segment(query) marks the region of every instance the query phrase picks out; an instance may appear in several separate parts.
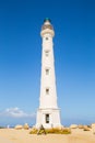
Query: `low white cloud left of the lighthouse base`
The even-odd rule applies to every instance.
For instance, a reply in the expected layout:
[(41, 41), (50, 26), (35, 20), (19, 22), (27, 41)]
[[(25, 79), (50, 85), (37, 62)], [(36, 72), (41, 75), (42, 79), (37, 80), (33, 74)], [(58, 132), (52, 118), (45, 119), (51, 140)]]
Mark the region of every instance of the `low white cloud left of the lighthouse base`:
[(34, 118), (35, 113), (26, 113), (20, 108), (8, 108), (0, 112), (0, 117), (11, 117), (11, 118)]

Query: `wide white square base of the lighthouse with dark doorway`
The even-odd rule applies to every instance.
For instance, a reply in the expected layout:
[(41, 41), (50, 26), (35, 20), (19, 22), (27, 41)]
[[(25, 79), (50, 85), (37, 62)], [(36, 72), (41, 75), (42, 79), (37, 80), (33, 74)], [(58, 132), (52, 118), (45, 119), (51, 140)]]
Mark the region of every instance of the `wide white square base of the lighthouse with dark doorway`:
[[(49, 114), (48, 121), (46, 119), (47, 117), (46, 114)], [(45, 129), (61, 128), (60, 110), (59, 109), (38, 109), (37, 121), (36, 121), (35, 127), (38, 129), (40, 124), (43, 124)]]

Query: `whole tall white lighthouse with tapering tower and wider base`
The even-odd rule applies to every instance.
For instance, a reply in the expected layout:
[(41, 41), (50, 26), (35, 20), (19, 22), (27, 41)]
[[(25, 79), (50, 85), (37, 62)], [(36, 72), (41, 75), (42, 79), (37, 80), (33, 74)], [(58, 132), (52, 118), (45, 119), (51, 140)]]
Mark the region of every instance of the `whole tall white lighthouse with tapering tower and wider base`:
[(61, 127), (60, 110), (57, 105), (55, 59), (54, 59), (54, 28), (49, 19), (45, 19), (40, 35), (43, 38), (41, 78), (39, 108), (37, 110), (36, 128)]

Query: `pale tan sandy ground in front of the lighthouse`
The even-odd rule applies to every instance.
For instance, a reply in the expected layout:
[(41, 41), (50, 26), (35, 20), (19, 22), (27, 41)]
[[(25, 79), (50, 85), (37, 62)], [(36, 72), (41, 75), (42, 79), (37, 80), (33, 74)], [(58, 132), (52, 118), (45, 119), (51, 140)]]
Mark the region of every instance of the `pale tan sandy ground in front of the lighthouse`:
[(29, 134), (29, 130), (0, 129), (0, 143), (95, 143), (92, 131), (73, 129), (71, 134)]

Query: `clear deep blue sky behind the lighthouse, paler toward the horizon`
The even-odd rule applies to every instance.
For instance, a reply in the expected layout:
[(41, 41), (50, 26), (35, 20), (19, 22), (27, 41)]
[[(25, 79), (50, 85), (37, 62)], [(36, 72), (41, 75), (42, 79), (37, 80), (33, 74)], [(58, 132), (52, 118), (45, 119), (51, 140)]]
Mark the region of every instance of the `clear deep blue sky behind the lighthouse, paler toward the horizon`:
[(95, 1), (0, 0), (0, 125), (35, 123), (47, 16), (62, 123), (95, 122)]

